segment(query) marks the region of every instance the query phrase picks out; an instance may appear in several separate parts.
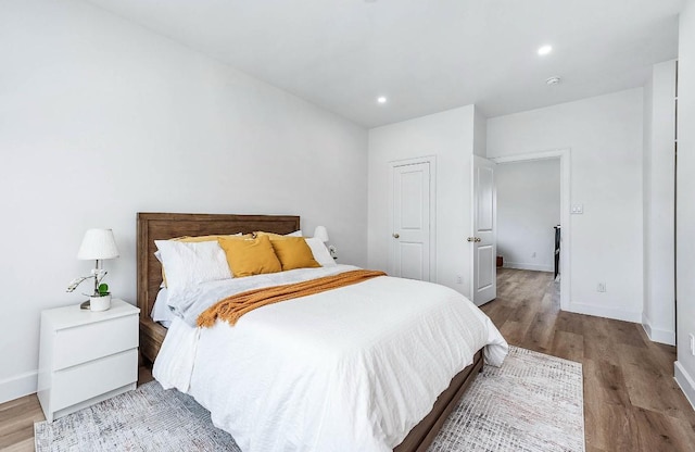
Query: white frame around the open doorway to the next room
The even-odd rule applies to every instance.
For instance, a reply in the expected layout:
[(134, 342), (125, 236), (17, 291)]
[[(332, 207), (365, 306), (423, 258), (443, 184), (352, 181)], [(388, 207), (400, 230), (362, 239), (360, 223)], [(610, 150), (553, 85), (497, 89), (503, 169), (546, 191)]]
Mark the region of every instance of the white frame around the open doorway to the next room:
[(549, 151), (530, 152), (515, 155), (490, 158), (495, 163), (530, 162), (534, 160), (560, 159), (560, 309), (570, 311), (570, 268), (571, 222), (569, 206), (571, 202), (571, 149), (554, 149)]

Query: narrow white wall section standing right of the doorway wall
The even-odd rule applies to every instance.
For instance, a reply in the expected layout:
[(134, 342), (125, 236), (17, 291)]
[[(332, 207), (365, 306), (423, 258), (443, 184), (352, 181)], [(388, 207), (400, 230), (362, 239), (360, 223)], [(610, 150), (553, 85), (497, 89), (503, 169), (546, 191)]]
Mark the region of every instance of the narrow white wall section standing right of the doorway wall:
[(675, 61), (654, 65), (644, 88), (644, 313), (652, 340), (675, 344)]

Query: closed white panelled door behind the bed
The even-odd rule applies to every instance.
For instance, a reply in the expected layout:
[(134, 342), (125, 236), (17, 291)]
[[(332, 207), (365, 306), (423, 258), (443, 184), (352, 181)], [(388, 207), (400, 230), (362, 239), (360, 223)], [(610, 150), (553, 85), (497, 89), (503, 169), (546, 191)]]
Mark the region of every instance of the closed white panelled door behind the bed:
[(392, 166), (389, 273), (430, 280), (430, 163)]

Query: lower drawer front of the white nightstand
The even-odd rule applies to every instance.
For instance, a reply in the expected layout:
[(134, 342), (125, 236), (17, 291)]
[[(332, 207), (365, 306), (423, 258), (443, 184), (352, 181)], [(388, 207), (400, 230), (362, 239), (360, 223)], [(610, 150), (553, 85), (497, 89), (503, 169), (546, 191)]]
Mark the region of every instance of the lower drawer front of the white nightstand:
[(52, 410), (62, 410), (137, 379), (138, 351), (135, 349), (58, 371), (53, 375)]

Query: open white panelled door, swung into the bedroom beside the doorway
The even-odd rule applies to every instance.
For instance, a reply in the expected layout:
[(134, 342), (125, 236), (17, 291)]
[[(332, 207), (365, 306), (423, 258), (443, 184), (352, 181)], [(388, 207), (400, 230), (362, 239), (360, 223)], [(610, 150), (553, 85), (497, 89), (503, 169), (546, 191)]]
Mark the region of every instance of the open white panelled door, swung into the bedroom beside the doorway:
[(473, 234), (468, 238), (472, 247), (471, 299), (480, 306), (497, 296), (495, 164), (473, 155), (471, 181)]

